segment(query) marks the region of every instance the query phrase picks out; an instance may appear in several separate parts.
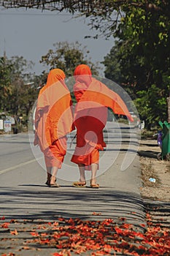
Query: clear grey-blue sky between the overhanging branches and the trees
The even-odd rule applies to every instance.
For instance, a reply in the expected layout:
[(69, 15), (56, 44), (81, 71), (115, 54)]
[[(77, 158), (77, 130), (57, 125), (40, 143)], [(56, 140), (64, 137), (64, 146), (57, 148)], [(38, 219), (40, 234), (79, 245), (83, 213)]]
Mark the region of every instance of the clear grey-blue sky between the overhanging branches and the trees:
[[(23, 56), (27, 61), (34, 61), (34, 72), (39, 75), (45, 67), (39, 60), (55, 42), (80, 42), (87, 46), (93, 63), (103, 61), (114, 45), (114, 39), (85, 39), (95, 35), (85, 18), (72, 18), (66, 12), (42, 10), (4, 10), (0, 7), (0, 56), (4, 50), (7, 57)], [(48, 70), (47, 70), (48, 71)], [(100, 75), (103, 75), (103, 65)]]

